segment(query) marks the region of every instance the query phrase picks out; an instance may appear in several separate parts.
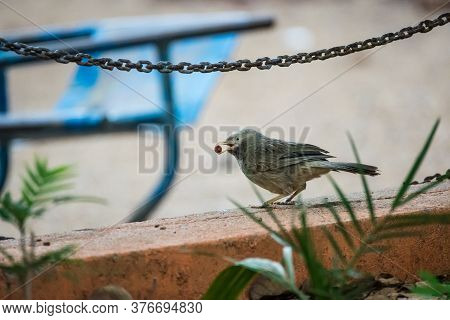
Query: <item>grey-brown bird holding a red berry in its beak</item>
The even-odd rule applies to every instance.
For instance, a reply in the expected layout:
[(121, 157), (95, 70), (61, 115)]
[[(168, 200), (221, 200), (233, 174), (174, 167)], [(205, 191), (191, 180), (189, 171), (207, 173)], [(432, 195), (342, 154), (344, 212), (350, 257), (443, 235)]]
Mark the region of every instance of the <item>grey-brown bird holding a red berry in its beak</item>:
[(292, 204), (292, 200), (306, 189), (308, 181), (330, 171), (369, 176), (379, 174), (375, 166), (329, 161), (335, 157), (312, 144), (272, 139), (247, 128), (218, 142), (214, 151), (217, 154), (227, 152), (233, 155), (251, 182), (277, 195), (264, 202), (263, 207), (286, 197), (286, 201), (278, 203)]

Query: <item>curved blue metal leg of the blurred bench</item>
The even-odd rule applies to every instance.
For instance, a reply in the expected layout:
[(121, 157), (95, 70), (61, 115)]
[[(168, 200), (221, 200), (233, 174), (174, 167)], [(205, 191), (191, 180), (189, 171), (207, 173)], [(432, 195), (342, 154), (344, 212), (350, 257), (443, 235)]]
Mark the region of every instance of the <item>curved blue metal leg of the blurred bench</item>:
[[(158, 50), (161, 61), (169, 61), (168, 43), (158, 44)], [(165, 158), (163, 177), (160, 183), (153, 190), (151, 195), (144, 200), (144, 203), (132, 213), (129, 222), (145, 221), (150, 217), (151, 211), (160, 203), (162, 198), (169, 190), (173, 179), (175, 178), (178, 166), (178, 145), (179, 136), (176, 128), (176, 119), (174, 117), (174, 97), (173, 85), (168, 73), (162, 74), (163, 78), (163, 96), (166, 108), (166, 123), (163, 124), (163, 135), (165, 140)]]

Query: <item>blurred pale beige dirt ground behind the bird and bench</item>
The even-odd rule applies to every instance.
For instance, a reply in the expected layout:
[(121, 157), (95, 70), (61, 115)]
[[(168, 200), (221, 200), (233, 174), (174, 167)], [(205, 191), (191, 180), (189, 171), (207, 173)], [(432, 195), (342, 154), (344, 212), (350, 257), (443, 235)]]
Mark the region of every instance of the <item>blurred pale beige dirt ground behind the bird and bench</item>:
[[(10, 8), (0, 4), (0, 33), (16, 28), (36, 28), (30, 21), (49, 25), (116, 16), (231, 10), (273, 15), (274, 28), (240, 37), (239, 47), (233, 54), (235, 59), (347, 44), (397, 31), (422, 20), (432, 11), (432, 5), (424, 7), (415, 1), (395, 0), (8, 0), (5, 3)], [(438, 13), (443, 11), (449, 10)], [(295, 41), (296, 37), (302, 37), (302, 46)], [(224, 74), (194, 128), (199, 130), (207, 125), (261, 127), (272, 120), (269, 126), (286, 131), (296, 128), (300, 133), (307, 127), (308, 143), (323, 147), (343, 161), (353, 160), (346, 137), (349, 131), (364, 162), (380, 167), (382, 174), (370, 179), (372, 188), (380, 189), (401, 182), (433, 122), (440, 117), (436, 139), (417, 178), (445, 172), (449, 168), (450, 145), (448, 39), (450, 28), (445, 26), (390, 44), (374, 54), (361, 52), (286, 69)], [(352, 67), (368, 54), (370, 57)], [(72, 65), (47, 63), (11, 70), (12, 110), (51, 109), (73, 69)], [(310, 97), (298, 104), (307, 96)], [(215, 142), (211, 140), (207, 144), (213, 146)], [(31, 161), (34, 154), (48, 157), (52, 164), (73, 163), (79, 173), (76, 190), (104, 197), (108, 205), (77, 204), (56, 208), (35, 222), (36, 232), (109, 226), (126, 217), (159, 177), (158, 173), (138, 172), (137, 146), (136, 133), (16, 143), (7, 188), (18, 189), (23, 165)], [(186, 137), (182, 146), (190, 148), (195, 156), (210, 157), (196, 141), (187, 141)], [(182, 152), (184, 165), (192, 161), (187, 154), (190, 152)], [(224, 158), (218, 160), (218, 170), (213, 173), (196, 171), (194, 165), (190, 172), (180, 174), (156, 216), (223, 210), (233, 206), (228, 198), (242, 204), (255, 203), (256, 197), (247, 179), (236, 165), (227, 173), (228, 162)], [(333, 176), (345, 191), (361, 189), (357, 176)], [(303, 195), (318, 197), (331, 193), (329, 182), (322, 178), (308, 183)], [(14, 232), (0, 224), (0, 234), (7, 236)]]

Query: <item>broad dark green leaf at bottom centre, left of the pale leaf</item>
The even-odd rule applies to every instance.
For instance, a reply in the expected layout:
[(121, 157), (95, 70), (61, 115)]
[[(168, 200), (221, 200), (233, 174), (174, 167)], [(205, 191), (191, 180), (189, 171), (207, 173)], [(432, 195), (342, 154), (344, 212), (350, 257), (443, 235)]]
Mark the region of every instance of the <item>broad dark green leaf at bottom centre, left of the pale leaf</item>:
[(232, 300), (248, 286), (256, 272), (243, 266), (231, 266), (223, 270), (211, 283), (203, 300)]

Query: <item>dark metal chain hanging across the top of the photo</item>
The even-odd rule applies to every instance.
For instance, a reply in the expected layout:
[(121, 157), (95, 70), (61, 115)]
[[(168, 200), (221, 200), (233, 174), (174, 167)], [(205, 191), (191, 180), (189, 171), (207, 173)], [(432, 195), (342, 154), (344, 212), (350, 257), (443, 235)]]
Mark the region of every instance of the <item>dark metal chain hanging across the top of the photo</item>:
[(329, 49), (318, 50), (310, 53), (298, 53), (294, 55), (282, 55), (276, 58), (258, 58), (254, 61), (249, 59), (237, 60), (233, 62), (221, 61), (217, 63), (200, 62), (198, 64), (189, 62), (180, 62), (173, 64), (167, 61), (152, 63), (148, 60), (139, 60), (132, 62), (128, 59), (113, 60), (111, 58), (94, 58), (87, 53), (70, 54), (64, 50), (49, 50), (47, 48), (33, 47), (24, 43), (11, 43), (0, 38), (0, 50), (13, 51), (22, 56), (32, 56), (44, 60), (54, 60), (58, 63), (76, 63), (80, 66), (97, 66), (102, 69), (113, 70), (114, 68), (121, 71), (136, 70), (138, 72), (150, 73), (153, 70), (161, 73), (171, 73), (178, 71), (184, 74), (194, 72), (210, 73), (210, 72), (229, 72), (229, 71), (249, 71), (253, 68), (259, 70), (268, 70), (272, 66), (289, 67), (295, 63), (310, 63), (316, 60), (327, 60), (334, 57), (342, 57), (355, 52), (373, 49), (385, 44), (407, 39), (416, 33), (426, 33), (435, 27), (443, 26), (450, 22), (450, 13), (444, 13), (434, 20), (424, 20), (414, 27), (406, 27), (398, 32), (390, 32), (381, 37), (370, 38), (364, 41), (358, 41), (346, 46), (338, 46)]

